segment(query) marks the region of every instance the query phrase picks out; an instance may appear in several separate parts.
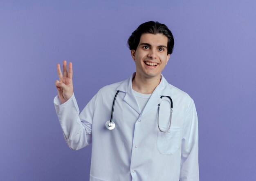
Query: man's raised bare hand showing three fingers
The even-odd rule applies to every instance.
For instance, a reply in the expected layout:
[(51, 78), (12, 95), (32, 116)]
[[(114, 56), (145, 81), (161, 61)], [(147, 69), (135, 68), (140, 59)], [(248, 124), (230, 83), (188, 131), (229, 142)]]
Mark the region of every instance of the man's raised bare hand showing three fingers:
[(63, 104), (73, 95), (72, 62), (68, 64), (67, 71), (67, 61), (63, 61), (63, 75), (61, 72), (61, 65), (57, 64), (57, 72), (59, 80), (56, 80), (55, 86), (58, 91), (58, 97), (61, 100), (61, 103)]

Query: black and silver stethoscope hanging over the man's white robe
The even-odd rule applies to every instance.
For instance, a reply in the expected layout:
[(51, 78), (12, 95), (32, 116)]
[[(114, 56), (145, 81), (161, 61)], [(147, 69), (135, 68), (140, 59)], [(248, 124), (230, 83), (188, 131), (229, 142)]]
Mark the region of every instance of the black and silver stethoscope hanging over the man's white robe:
[[(115, 102), (116, 102), (116, 99), (117, 99), (117, 94), (119, 93), (119, 91), (117, 91), (116, 95), (115, 95), (115, 98), (114, 98), (114, 101), (113, 101), (113, 105), (112, 105), (112, 112), (111, 112), (111, 117), (110, 117), (110, 121), (107, 121), (106, 122), (106, 128), (108, 128), (109, 130), (112, 130), (115, 128), (116, 124), (112, 121), (113, 119), (113, 113), (114, 113), (114, 107), (115, 107)], [(159, 130), (161, 132), (169, 132), (170, 128), (171, 128), (171, 121), (172, 121), (172, 113), (173, 113), (173, 100), (171, 99), (170, 96), (167, 96), (167, 95), (161, 95), (160, 98), (162, 99), (162, 97), (168, 97), (171, 101), (171, 115), (170, 115), (170, 124), (169, 124), (169, 128), (168, 130), (162, 130), (160, 127), (159, 127), (159, 111), (160, 111), (160, 104), (158, 104), (158, 108), (157, 108), (157, 126), (159, 128)]]

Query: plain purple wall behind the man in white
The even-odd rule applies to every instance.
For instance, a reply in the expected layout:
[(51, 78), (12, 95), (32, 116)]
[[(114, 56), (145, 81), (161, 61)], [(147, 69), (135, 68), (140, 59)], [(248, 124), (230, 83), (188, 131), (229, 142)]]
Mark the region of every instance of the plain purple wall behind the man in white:
[(0, 1), (0, 180), (89, 179), (91, 147), (70, 150), (56, 116), (56, 64), (73, 62), (82, 110), (135, 71), (126, 41), (149, 20), (175, 37), (163, 74), (195, 101), (200, 180), (255, 180), (254, 0)]

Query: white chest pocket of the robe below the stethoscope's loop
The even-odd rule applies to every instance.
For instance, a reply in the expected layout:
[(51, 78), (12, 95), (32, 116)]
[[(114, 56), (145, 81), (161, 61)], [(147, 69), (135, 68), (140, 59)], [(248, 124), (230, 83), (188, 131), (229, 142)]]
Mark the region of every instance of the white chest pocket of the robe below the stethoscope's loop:
[(160, 154), (173, 155), (180, 148), (180, 128), (171, 128), (170, 132), (157, 133), (157, 150)]

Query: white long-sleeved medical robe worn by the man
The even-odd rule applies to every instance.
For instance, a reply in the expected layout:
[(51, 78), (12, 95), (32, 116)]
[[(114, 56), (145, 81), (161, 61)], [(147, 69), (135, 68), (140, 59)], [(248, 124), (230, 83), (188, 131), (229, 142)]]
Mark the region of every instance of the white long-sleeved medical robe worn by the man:
[[(68, 146), (81, 149), (92, 143), (90, 181), (199, 181), (198, 118), (193, 99), (168, 84), (162, 76), (144, 110), (132, 92), (132, 78), (105, 86), (79, 115), (74, 95), (61, 104), (54, 98), (56, 113)], [(105, 127), (110, 120), (117, 91), (114, 130)], [(173, 114), (169, 132), (170, 101)]]

